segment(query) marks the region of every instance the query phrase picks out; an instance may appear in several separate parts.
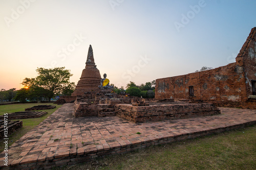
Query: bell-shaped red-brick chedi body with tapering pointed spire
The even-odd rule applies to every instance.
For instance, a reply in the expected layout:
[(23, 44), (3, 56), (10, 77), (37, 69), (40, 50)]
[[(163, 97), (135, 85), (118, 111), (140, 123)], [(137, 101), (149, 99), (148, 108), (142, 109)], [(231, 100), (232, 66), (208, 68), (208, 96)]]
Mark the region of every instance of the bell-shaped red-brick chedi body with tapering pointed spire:
[(98, 86), (100, 85), (100, 80), (100, 73), (94, 62), (93, 48), (92, 45), (90, 45), (86, 61), (86, 68), (82, 70), (81, 78), (78, 81), (76, 89), (72, 95), (83, 95), (84, 92), (99, 89)]

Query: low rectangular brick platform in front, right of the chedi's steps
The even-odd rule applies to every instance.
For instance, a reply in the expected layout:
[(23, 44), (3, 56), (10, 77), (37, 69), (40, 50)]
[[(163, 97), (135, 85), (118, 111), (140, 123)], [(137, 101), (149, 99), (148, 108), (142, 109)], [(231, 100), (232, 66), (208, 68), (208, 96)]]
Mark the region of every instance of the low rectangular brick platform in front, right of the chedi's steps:
[(151, 106), (117, 104), (115, 105), (115, 111), (117, 116), (129, 120), (133, 123), (208, 116), (221, 113), (215, 105), (209, 103), (184, 103)]

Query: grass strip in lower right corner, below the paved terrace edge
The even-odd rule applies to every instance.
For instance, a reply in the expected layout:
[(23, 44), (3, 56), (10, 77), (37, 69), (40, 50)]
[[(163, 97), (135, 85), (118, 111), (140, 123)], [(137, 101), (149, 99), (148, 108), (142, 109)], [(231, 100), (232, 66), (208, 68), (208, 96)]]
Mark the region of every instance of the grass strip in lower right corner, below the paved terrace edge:
[(256, 169), (256, 126), (55, 169)]

